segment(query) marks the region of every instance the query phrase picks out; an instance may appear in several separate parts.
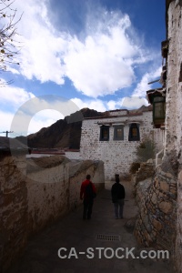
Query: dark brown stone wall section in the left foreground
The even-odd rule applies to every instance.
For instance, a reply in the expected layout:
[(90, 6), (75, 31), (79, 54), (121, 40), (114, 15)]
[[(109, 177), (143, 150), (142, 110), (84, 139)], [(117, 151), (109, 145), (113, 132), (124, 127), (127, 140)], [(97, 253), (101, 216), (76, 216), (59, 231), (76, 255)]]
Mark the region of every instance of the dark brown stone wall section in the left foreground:
[(25, 157), (0, 157), (0, 272), (26, 243)]

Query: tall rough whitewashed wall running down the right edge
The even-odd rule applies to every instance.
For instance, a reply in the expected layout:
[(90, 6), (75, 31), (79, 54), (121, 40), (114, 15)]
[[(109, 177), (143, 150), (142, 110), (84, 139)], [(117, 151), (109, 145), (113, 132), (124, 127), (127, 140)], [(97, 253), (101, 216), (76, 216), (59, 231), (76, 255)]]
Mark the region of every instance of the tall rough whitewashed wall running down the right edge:
[(177, 180), (175, 263), (182, 272), (182, 1), (168, 1), (167, 111), (165, 155)]

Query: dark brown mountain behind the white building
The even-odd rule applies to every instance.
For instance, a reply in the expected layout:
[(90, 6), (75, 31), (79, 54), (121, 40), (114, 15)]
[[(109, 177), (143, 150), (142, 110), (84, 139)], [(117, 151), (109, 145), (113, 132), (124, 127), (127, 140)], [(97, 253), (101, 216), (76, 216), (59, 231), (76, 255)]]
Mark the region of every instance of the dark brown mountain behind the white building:
[(81, 126), (84, 117), (106, 116), (106, 112), (97, 112), (83, 108), (76, 113), (59, 119), (51, 126), (40, 129), (29, 136), (17, 136), (17, 140), (31, 148), (73, 148), (80, 147)]

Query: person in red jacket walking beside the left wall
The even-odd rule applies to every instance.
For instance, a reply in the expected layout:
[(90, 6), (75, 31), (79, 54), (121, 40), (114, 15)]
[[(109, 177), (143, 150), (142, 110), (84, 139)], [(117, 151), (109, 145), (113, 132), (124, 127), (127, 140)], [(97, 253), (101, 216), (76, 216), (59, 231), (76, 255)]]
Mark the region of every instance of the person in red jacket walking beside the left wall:
[(96, 187), (90, 181), (90, 175), (86, 175), (86, 180), (82, 182), (80, 188), (80, 199), (84, 199), (84, 212), (83, 219), (85, 220), (91, 218), (92, 215), (92, 207), (94, 205), (94, 198), (96, 197)]

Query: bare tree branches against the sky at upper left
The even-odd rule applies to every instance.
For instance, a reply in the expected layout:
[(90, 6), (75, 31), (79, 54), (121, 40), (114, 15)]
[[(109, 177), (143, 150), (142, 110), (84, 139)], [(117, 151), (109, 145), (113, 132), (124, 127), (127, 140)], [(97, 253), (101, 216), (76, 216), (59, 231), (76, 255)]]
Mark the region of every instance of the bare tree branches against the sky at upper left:
[[(7, 71), (8, 66), (19, 65), (16, 56), (20, 50), (20, 43), (16, 40), (16, 25), (22, 15), (15, 19), (16, 9), (12, 7), (15, 1), (0, 0), (0, 72)], [(6, 82), (11, 84), (12, 81)], [(5, 83), (0, 82), (0, 86)]]

